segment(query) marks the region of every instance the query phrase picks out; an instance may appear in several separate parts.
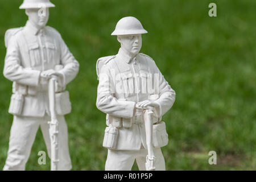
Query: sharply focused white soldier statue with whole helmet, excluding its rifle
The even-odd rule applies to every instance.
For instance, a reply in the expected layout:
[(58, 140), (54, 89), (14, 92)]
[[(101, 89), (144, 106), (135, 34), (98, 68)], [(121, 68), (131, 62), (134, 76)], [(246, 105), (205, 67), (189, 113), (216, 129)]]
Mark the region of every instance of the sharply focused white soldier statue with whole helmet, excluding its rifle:
[(168, 135), (161, 119), (174, 104), (175, 91), (154, 60), (139, 53), (141, 34), (146, 33), (138, 19), (132, 16), (122, 18), (112, 33), (121, 43), (119, 52), (97, 61), (96, 106), (106, 113), (108, 125), (103, 142), (103, 146), (109, 149), (106, 170), (131, 170), (135, 159), (139, 169), (146, 170), (146, 156), (150, 158), (144, 123), (147, 118), (143, 113), (146, 108), (154, 111), (151, 131), (154, 156), (151, 155), (149, 160), (154, 160), (155, 164), (151, 169), (165, 170), (160, 147), (168, 143)]

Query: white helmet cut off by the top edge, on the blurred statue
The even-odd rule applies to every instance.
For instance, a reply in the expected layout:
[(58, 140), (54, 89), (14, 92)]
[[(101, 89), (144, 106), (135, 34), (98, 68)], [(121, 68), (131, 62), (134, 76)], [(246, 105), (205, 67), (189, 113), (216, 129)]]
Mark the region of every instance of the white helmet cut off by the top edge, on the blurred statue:
[(38, 9), (42, 7), (55, 7), (49, 0), (24, 0), (19, 9)]

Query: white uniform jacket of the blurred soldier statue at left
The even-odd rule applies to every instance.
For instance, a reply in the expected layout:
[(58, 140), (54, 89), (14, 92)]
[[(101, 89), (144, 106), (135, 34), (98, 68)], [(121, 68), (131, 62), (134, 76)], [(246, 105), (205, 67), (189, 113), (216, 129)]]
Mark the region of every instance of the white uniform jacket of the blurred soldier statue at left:
[[(61, 85), (65, 86), (79, 71), (79, 63), (54, 28), (34, 27), (29, 21), (8, 43), (4, 76), (14, 82), (14, 91), (24, 95), (22, 115), (43, 117), (49, 114), (47, 85), (40, 84), (40, 73), (63, 65)], [(23, 88), (20, 89), (20, 88)]]

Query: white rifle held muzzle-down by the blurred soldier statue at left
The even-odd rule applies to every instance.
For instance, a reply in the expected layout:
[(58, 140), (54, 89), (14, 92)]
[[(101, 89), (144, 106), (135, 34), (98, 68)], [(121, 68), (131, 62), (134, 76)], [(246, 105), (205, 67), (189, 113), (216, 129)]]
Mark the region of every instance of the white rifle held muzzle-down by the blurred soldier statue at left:
[(51, 139), (51, 171), (57, 171), (58, 158), (58, 133), (59, 133), (59, 121), (57, 121), (55, 111), (55, 81), (56, 77), (52, 76), (49, 80), (49, 110), (51, 113), (51, 121), (49, 124), (49, 135)]

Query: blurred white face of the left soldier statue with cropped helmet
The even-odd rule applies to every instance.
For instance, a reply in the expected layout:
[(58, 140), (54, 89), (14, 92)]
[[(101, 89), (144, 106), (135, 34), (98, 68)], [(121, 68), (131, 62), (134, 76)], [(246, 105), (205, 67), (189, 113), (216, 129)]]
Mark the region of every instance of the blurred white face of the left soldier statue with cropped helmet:
[(38, 27), (46, 26), (49, 19), (49, 8), (45, 9), (27, 9), (28, 20)]

